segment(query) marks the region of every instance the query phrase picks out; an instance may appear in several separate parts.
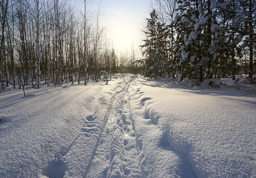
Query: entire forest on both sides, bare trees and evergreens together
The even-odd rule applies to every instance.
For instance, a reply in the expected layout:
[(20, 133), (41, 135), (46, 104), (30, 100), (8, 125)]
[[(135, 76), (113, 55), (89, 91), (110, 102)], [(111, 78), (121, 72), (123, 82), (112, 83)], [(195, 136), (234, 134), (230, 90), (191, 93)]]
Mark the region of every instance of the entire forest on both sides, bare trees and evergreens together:
[(143, 30), (142, 59), (119, 58), (84, 0), (3, 0), (0, 7), (0, 92), (7, 87), (61, 85), (134, 72), (149, 78), (185, 78), (200, 85), (236, 76), (255, 83), (255, 0), (155, 0)]

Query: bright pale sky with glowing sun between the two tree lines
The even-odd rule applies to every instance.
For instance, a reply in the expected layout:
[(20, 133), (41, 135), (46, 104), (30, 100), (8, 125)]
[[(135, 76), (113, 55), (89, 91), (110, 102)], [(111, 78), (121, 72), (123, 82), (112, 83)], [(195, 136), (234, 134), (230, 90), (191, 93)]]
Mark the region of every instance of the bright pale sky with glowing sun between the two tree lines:
[[(76, 0), (77, 3), (83, 0)], [(91, 0), (90, 8), (100, 9), (101, 25), (107, 29), (108, 39), (115, 52), (132, 53), (132, 46), (137, 56), (141, 56), (143, 30), (149, 17), (149, 0)]]

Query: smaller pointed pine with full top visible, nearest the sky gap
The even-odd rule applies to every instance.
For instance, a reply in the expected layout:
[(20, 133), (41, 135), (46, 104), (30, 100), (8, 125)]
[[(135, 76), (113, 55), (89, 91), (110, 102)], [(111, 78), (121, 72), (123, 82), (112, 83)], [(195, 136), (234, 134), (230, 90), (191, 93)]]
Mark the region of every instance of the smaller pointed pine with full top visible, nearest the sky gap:
[(147, 18), (146, 40), (141, 47), (144, 50), (143, 55), (146, 59), (142, 63), (143, 75), (149, 78), (167, 77), (168, 61), (168, 27), (160, 23), (155, 9), (152, 10), (150, 18)]

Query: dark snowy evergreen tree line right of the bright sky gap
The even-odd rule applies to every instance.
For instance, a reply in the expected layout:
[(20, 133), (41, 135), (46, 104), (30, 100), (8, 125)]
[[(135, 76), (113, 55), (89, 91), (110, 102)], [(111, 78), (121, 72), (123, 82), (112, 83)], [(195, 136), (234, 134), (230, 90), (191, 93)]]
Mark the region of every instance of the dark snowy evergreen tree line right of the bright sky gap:
[(145, 77), (204, 80), (245, 74), (255, 82), (255, 0), (156, 0), (146, 19)]

